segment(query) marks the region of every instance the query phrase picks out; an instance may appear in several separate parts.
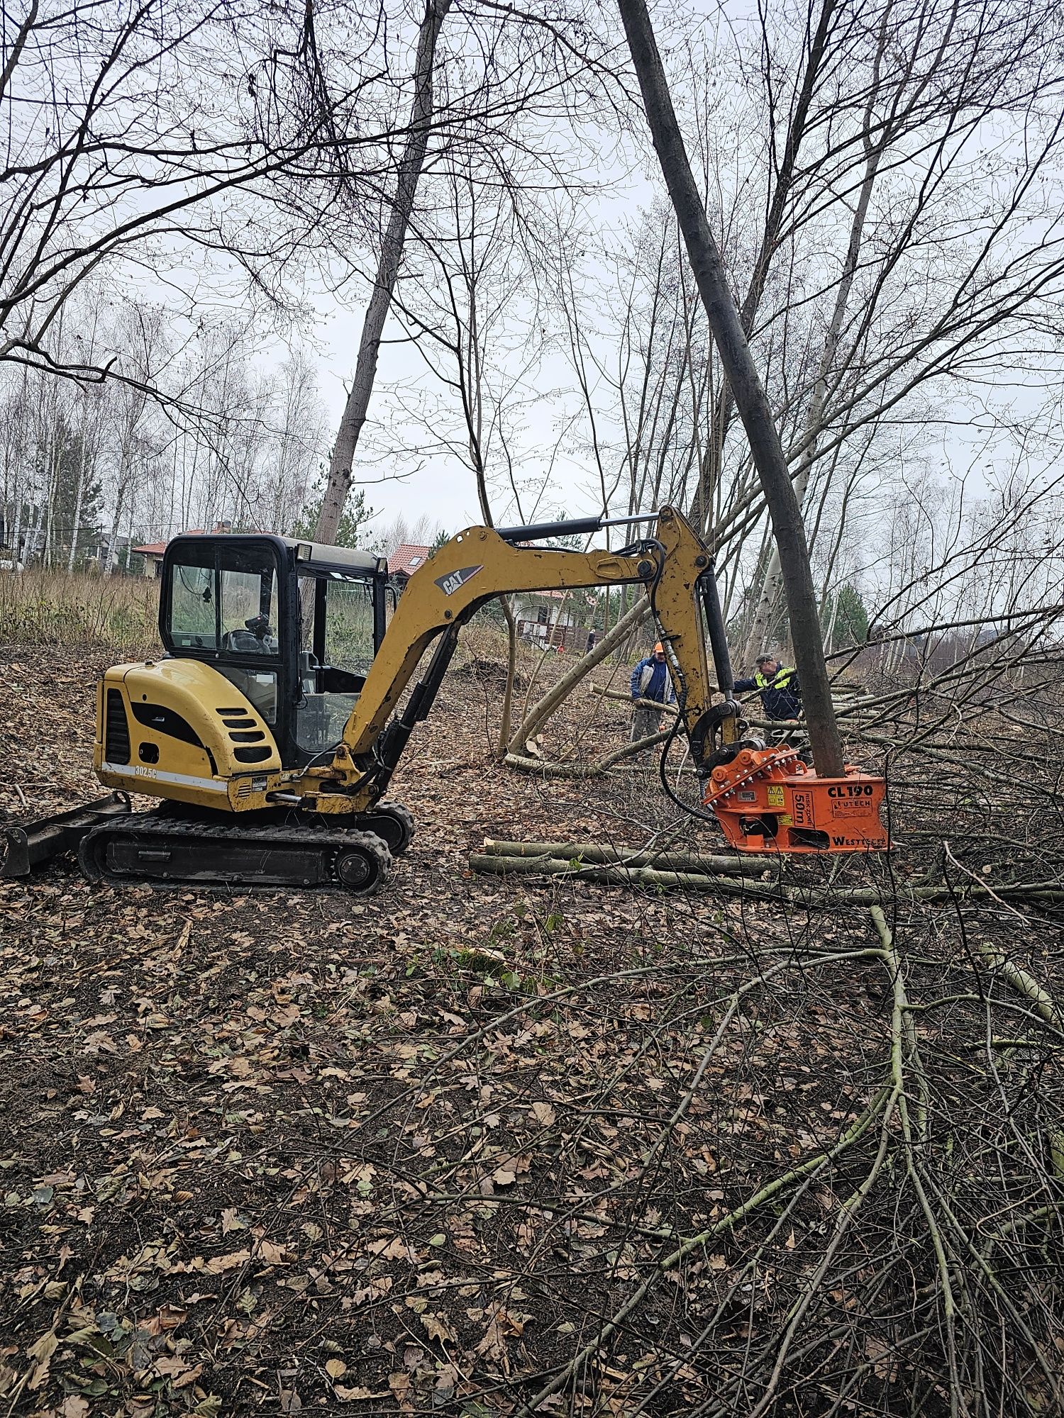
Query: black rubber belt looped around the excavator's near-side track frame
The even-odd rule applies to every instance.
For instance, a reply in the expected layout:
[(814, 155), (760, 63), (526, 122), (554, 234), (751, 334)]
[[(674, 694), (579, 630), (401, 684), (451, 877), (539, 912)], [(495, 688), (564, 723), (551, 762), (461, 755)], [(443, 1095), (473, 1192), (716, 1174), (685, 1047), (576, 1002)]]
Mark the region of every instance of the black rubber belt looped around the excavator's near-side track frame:
[[(211, 841), (231, 841), (238, 842), (241, 847), (254, 847), (261, 844), (262, 847), (292, 847), (305, 848), (308, 841), (314, 842), (315, 847), (321, 847), (325, 852), (333, 854), (333, 861), (331, 864), (332, 881), (316, 882), (312, 886), (304, 886), (302, 882), (267, 882), (258, 883), (254, 878), (247, 878), (244, 881), (216, 881), (197, 878), (159, 878), (150, 873), (143, 876), (135, 876), (125, 872), (111, 873), (96, 865), (96, 854), (92, 851), (95, 844), (99, 844), (106, 837), (123, 837), (129, 834), (136, 834), (145, 845), (146, 838), (173, 838), (182, 837), (186, 841), (189, 838), (200, 838), (210, 844)], [(342, 848), (349, 848), (352, 845), (372, 845), (375, 855), (380, 861), (380, 872), (376, 881), (367, 886), (365, 891), (353, 891), (350, 886), (345, 886), (336, 878), (335, 861)], [(84, 856), (92, 851), (94, 865), (91, 869), (85, 868)], [(210, 848), (207, 847), (207, 851)], [(214, 889), (226, 888), (230, 891), (342, 891), (349, 896), (373, 896), (379, 892), (392, 875), (393, 856), (387, 849), (387, 845), (376, 835), (376, 832), (329, 832), (316, 827), (292, 828), (289, 825), (262, 825), (254, 828), (237, 830), (223, 824), (201, 822), (196, 818), (182, 818), (182, 817), (167, 817), (162, 813), (132, 813), (128, 817), (112, 822), (105, 822), (102, 827), (94, 828), (85, 835), (78, 852), (78, 861), (81, 869), (89, 881), (102, 881), (109, 886), (132, 886), (132, 885), (149, 885), (149, 886), (167, 886), (167, 888), (182, 888), (182, 889)]]

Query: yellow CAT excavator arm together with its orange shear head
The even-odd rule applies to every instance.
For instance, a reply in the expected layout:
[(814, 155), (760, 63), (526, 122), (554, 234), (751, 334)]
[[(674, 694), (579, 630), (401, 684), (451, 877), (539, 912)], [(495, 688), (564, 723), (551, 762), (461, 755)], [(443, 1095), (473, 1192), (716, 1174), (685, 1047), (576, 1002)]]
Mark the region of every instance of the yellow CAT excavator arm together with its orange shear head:
[[(410, 577), (332, 764), (316, 770), (355, 811), (373, 808), (414, 726), (428, 715), (458, 631), (495, 596), (514, 591), (641, 584), (647, 588), (677, 685), (691, 757), (728, 842), (739, 851), (884, 851), (880, 810), (884, 780), (846, 767), (820, 778), (789, 743), (739, 742), (738, 709), (724, 618), (709, 553), (689, 523), (663, 508), (655, 535), (621, 552), (565, 552), (515, 543), (567, 527), (471, 527), (453, 537)], [(706, 634), (714, 674), (706, 661)], [(400, 696), (430, 644), (437, 648), (401, 712)], [(714, 692), (721, 698), (714, 702)], [(392, 716), (392, 718), (390, 718)], [(314, 771), (314, 770), (312, 770)], [(318, 804), (328, 801), (326, 783)]]

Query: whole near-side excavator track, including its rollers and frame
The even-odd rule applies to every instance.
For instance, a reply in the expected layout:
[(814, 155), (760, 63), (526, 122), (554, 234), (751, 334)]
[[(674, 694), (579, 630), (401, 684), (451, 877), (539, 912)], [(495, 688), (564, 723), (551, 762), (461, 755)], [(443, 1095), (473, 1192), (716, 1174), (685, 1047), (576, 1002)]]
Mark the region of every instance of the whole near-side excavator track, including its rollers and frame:
[(392, 872), (392, 852), (375, 832), (135, 813), (87, 832), (78, 864), (89, 881), (112, 886), (309, 888), (372, 896)]

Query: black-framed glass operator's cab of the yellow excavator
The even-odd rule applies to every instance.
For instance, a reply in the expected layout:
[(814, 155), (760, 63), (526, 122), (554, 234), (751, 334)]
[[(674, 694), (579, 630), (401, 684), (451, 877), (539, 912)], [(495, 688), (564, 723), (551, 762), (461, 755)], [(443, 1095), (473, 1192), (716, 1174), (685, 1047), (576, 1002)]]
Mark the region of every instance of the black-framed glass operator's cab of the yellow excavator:
[[(170, 657), (224, 675), (268, 727), (281, 767), (299, 769), (343, 736), (384, 637), (386, 596), (386, 563), (369, 552), (179, 536), (163, 557), (159, 631)], [(272, 757), (257, 729), (243, 730), (250, 766)]]

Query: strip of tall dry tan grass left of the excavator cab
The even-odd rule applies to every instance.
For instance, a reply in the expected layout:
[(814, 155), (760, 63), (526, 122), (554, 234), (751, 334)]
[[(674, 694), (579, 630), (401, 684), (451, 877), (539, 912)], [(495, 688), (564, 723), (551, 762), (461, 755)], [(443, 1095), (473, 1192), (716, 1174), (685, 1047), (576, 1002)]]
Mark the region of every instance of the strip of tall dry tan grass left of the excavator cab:
[(28, 567), (0, 571), (0, 644), (159, 649), (159, 583)]

